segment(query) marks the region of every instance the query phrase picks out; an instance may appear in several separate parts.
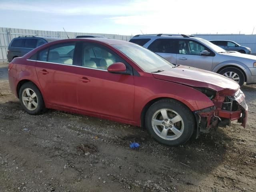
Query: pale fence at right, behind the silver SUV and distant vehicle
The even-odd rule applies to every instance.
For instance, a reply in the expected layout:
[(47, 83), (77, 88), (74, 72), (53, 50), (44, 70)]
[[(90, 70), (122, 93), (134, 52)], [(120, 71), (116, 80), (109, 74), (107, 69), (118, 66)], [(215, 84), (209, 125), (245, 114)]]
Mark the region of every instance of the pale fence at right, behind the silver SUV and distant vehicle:
[(256, 55), (256, 34), (193, 34), (195, 37), (200, 37), (206, 40), (230, 40), (242, 46), (252, 49), (252, 54)]

